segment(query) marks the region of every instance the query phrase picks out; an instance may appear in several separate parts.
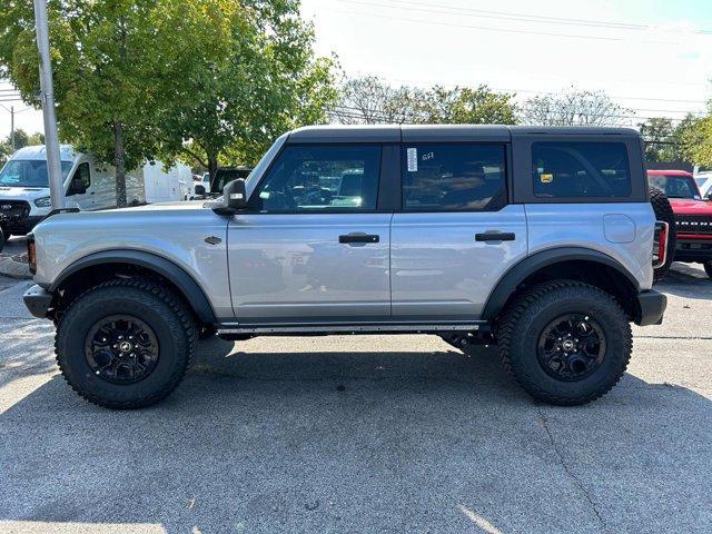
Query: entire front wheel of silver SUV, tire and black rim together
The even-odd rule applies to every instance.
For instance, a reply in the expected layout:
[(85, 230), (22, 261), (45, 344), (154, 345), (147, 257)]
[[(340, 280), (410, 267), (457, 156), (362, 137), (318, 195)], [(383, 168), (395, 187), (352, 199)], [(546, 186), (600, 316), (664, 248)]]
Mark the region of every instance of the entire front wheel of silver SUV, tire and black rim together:
[(184, 301), (144, 279), (116, 279), (78, 297), (61, 317), (57, 363), (87, 400), (139, 408), (168, 396), (196, 350), (197, 328)]

